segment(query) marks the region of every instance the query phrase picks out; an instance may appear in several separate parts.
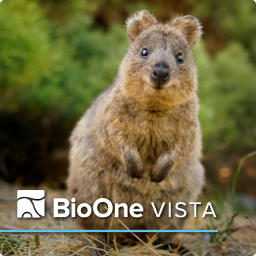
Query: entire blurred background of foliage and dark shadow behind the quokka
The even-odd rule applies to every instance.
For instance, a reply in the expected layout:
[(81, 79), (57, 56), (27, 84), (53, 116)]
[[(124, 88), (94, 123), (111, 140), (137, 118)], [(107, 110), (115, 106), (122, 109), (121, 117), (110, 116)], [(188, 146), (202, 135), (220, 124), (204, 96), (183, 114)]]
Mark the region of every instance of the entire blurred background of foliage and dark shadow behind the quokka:
[[(222, 191), (256, 148), (256, 3), (252, 0), (19, 0), (0, 2), (0, 177), (64, 188), (68, 137), (108, 88), (127, 52), (124, 21), (195, 15), (194, 49), (208, 181)], [(237, 184), (256, 197), (256, 159)]]

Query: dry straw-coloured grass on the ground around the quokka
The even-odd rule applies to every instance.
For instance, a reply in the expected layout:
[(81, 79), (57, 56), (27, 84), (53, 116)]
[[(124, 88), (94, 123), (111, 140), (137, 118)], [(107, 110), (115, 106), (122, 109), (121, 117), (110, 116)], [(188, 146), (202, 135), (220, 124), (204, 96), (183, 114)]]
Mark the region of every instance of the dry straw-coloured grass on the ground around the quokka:
[[(0, 229), (77, 229), (79, 228), (72, 219), (53, 219), (52, 214), (46, 214), (42, 219), (17, 219), (16, 218), (16, 191), (20, 187), (10, 187), (1, 183), (0, 191)], [(26, 188), (33, 189), (33, 188)], [(53, 197), (66, 197), (65, 192), (52, 191), (45, 187), (47, 193), (47, 205), (51, 208), (50, 202)], [(228, 207), (227, 207), (228, 208)], [(231, 208), (231, 206), (230, 206)], [(49, 209), (48, 209), (49, 210)], [(48, 211), (50, 212), (50, 211)], [(230, 219), (229, 219), (230, 220)], [(118, 221), (113, 219), (113, 221)], [(238, 216), (230, 222), (227, 229), (227, 222), (219, 221), (216, 225), (220, 231), (225, 230), (221, 236), (211, 236), (206, 233), (177, 234), (177, 243), (187, 247), (190, 255), (256, 255), (256, 228), (255, 218), (244, 219)], [(205, 219), (191, 218), (186, 229), (206, 229)], [(220, 234), (220, 232), (219, 232)], [(7, 237), (7, 235), (16, 238)], [(135, 235), (136, 236), (136, 235)], [(107, 255), (178, 255), (175, 250), (170, 252), (161, 249), (161, 245), (154, 245), (152, 242), (157, 238), (157, 234), (150, 234), (148, 242), (138, 241), (137, 238), (127, 238), (121, 236), (110, 238), (110, 246), (105, 246)], [(182, 239), (181, 239), (182, 238)], [(94, 248), (94, 240), (90, 234), (86, 233), (39, 233), (39, 234), (0, 234), (0, 255), (91, 255)], [(8, 248), (8, 249), (7, 249)]]

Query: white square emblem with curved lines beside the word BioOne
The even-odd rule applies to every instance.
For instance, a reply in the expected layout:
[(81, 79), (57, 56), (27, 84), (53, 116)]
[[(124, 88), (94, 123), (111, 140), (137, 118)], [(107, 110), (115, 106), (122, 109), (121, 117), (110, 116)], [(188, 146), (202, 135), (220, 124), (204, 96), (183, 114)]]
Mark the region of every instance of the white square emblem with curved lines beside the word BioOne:
[(44, 190), (17, 191), (17, 217), (39, 218), (45, 216)]

